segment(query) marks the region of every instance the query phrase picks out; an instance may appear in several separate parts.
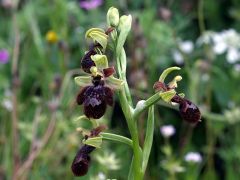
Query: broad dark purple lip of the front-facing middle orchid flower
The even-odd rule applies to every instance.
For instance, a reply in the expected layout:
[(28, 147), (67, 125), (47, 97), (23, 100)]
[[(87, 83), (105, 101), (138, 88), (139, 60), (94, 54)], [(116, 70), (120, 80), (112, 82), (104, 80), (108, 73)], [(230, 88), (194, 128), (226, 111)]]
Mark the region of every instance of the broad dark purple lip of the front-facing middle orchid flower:
[(104, 86), (101, 76), (93, 78), (91, 86), (84, 87), (77, 96), (77, 103), (83, 104), (84, 114), (88, 118), (101, 118), (107, 108), (107, 105), (113, 105), (113, 91)]

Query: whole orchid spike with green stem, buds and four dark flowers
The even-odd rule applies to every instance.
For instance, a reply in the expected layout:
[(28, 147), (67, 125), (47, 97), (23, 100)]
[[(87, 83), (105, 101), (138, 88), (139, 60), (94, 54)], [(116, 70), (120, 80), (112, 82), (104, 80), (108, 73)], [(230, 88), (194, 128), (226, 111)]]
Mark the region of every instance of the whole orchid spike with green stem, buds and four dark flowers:
[[(157, 81), (153, 88), (156, 93), (147, 100), (141, 100), (134, 108), (130, 89), (127, 82), (127, 57), (124, 49), (124, 44), (128, 33), (131, 30), (132, 16), (123, 15), (119, 17), (116, 8), (110, 8), (107, 13), (107, 22), (110, 26), (106, 31), (99, 28), (92, 28), (86, 32), (86, 38), (93, 41), (92, 48), (82, 58), (82, 69), (89, 74), (89, 76), (80, 76), (75, 78), (75, 82), (79, 86), (83, 86), (77, 96), (77, 103), (83, 105), (84, 114), (87, 118), (91, 118), (93, 122), (100, 119), (106, 111), (107, 105), (113, 105), (113, 92), (111, 88), (116, 90), (120, 106), (125, 116), (127, 126), (131, 135), (131, 139), (112, 133), (96, 131), (99, 127), (92, 130), (92, 135), (87, 137), (83, 143), (85, 144), (79, 151), (77, 158), (73, 162), (73, 173), (78, 175), (80, 165), (86, 167), (85, 173), (88, 170), (90, 159), (90, 151), (95, 148), (100, 148), (102, 140), (111, 140), (115, 142), (124, 143), (133, 150), (132, 162), (128, 174), (128, 179), (142, 180), (147, 168), (154, 135), (154, 104), (160, 99), (166, 103), (178, 103), (180, 113), (184, 119), (191, 122), (193, 117), (196, 122), (199, 120), (200, 111), (195, 105), (184, 99), (182, 95), (175, 90), (177, 83), (182, 80), (182, 77), (177, 75), (168, 84), (164, 80), (168, 74), (175, 70), (180, 70), (179, 67), (171, 67), (163, 71), (159, 81)], [(114, 77), (114, 67), (108, 66), (108, 58), (105, 55), (105, 50), (109, 48), (113, 51), (116, 59), (116, 71), (118, 77)], [(89, 83), (91, 85), (89, 85)], [(110, 85), (109, 87), (107, 85)], [(192, 106), (194, 105), (195, 108)], [(139, 142), (138, 118), (141, 113), (148, 109), (147, 128), (143, 147)], [(195, 110), (195, 111), (194, 111)], [(191, 115), (191, 112), (198, 114)], [(194, 121), (195, 122), (195, 121)], [(93, 123), (94, 124), (94, 123)], [(101, 129), (103, 131), (104, 129)], [(97, 134), (95, 133), (98, 132)], [(97, 136), (99, 134), (99, 136)], [(83, 151), (83, 150), (84, 151)], [(76, 173), (75, 173), (76, 172)], [(79, 171), (81, 172), (81, 171)], [(79, 174), (80, 176), (82, 174)]]

